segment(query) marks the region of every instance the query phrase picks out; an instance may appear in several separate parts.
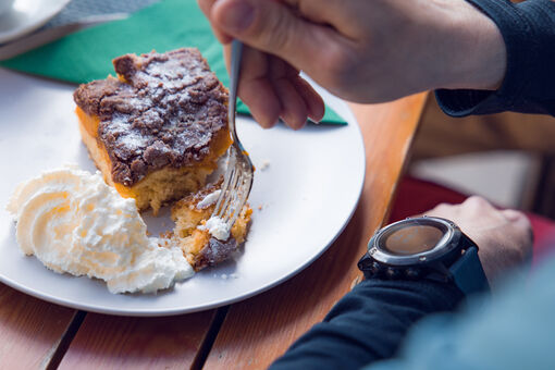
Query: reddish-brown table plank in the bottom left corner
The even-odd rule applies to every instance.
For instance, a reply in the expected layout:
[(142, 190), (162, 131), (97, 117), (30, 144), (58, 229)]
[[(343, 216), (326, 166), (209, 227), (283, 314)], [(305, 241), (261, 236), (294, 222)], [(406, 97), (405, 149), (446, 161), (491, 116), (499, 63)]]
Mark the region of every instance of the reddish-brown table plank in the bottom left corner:
[(0, 368), (46, 368), (76, 311), (0, 283)]

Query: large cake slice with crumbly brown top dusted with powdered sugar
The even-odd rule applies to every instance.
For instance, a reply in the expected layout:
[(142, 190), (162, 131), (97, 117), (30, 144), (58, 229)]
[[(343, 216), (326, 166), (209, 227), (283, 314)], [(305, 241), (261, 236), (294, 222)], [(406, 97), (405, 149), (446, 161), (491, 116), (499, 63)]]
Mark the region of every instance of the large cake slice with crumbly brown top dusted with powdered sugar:
[(83, 141), (108, 184), (158, 209), (197, 192), (231, 145), (227, 90), (197, 49), (113, 60), (118, 78), (74, 92)]

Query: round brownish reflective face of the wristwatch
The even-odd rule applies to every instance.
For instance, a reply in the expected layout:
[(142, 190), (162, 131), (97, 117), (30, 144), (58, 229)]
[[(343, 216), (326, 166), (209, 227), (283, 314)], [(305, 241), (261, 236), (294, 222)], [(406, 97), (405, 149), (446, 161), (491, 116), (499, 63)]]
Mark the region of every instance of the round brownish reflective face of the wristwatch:
[(384, 235), (383, 249), (392, 255), (407, 256), (435, 248), (445, 232), (430, 225), (409, 225)]

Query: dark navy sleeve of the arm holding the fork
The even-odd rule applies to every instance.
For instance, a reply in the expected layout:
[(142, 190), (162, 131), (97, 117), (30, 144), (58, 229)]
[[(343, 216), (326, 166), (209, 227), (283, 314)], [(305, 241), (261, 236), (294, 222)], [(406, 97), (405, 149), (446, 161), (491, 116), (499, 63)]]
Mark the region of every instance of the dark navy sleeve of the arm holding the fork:
[(555, 2), (467, 1), (499, 28), (507, 50), (507, 70), (496, 91), (436, 90), (443, 111), (452, 116), (503, 111), (555, 116)]

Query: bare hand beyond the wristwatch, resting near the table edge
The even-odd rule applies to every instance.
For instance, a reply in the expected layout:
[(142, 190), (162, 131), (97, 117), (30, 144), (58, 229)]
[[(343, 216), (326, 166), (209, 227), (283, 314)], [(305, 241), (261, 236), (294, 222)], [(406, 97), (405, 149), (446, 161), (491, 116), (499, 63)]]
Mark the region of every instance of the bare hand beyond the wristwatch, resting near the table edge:
[(474, 196), (460, 205), (439, 205), (424, 214), (455, 222), (478, 245), (478, 256), (492, 288), (506, 271), (531, 260), (528, 257), (532, 252), (532, 227), (522, 212), (497, 210)]

